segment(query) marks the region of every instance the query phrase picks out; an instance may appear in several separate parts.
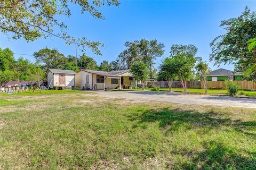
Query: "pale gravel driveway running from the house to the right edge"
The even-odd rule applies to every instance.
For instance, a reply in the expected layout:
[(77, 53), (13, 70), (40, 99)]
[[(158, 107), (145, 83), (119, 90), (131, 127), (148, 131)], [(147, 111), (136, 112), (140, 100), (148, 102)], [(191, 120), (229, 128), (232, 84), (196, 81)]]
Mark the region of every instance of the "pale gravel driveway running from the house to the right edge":
[(174, 92), (169, 93), (148, 91), (98, 91), (97, 95), (108, 99), (123, 98), (129, 101), (137, 102), (166, 101), (170, 103), (186, 105), (235, 106), (256, 108), (256, 99), (236, 98), (231, 96), (189, 95)]

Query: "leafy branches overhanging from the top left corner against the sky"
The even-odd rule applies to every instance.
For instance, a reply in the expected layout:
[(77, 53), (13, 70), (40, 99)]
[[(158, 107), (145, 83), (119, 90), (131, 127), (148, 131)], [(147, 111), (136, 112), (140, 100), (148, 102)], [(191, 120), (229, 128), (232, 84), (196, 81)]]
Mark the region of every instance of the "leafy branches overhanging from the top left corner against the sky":
[(3, 0), (0, 1), (0, 30), (6, 34), (11, 33), (13, 39), (24, 38), (27, 41), (55, 36), (66, 40), (68, 44), (77, 43), (83, 50), (89, 47), (93, 53), (101, 55), (98, 47), (102, 44), (99, 41), (69, 36), (67, 25), (60, 20), (60, 15), (70, 17), (69, 6), (74, 4), (79, 5), (82, 14), (90, 13), (97, 19), (104, 19), (98, 11), (99, 7), (119, 5), (117, 0)]

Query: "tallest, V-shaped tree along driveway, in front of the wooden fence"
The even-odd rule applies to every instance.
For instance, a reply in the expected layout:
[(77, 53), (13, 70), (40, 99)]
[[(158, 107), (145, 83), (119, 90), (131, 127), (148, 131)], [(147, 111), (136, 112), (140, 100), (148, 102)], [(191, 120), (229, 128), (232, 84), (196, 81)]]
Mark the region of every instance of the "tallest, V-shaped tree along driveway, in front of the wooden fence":
[(194, 45), (172, 45), (170, 53), (177, 78), (180, 80), (184, 91), (187, 92), (187, 81), (193, 77), (193, 69), (199, 59), (195, 56), (197, 48)]

